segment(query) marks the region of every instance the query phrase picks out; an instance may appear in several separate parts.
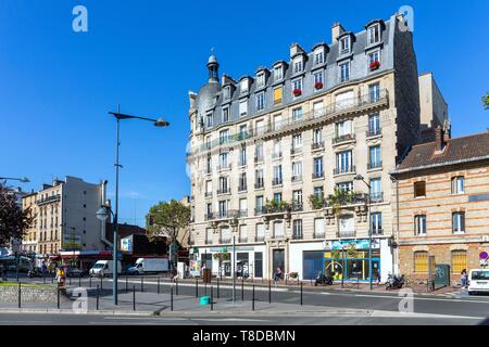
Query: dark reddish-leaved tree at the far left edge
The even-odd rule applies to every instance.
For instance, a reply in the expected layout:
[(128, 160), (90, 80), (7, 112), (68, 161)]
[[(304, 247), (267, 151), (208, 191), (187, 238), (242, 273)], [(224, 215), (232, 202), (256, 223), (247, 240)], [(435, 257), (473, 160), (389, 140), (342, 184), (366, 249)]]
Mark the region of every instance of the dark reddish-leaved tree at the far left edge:
[(7, 245), (11, 239), (22, 240), (34, 221), (30, 210), (22, 210), (15, 194), (0, 184), (0, 245)]

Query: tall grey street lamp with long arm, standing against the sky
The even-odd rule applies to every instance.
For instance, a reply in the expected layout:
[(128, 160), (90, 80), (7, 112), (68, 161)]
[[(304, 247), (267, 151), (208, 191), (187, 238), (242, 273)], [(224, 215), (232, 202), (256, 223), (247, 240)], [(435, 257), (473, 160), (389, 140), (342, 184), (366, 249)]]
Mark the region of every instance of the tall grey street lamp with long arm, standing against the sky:
[[(152, 118), (147, 118), (147, 117), (131, 116), (131, 115), (127, 115), (127, 114), (122, 114), (120, 112), (120, 110), (121, 110), (121, 107), (117, 106), (117, 112), (109, 112), (109, 114), (113, 115), (117, 120), (117, 142), (116, 142), (116, 154), (115, 154), (115, 213), (113, 214), (114, 215), (114, 240), (113, 240), (113, 252), (112, 252), (112, 258), (114, 261), (113, 287), (112, 287), (114, 305), (117, 305), (118, 169), (122, 167), (122, 165), (118, 162), (118, 147), (121, 146), (120, 123), (122, 119), (141, 119), (141, 120), (147, 120), (147, 121), (153, 123), (155, 127), (168, 127), (170, 126), (170, 123), (167, 123), (166, 120), (164, 120), (161, 117), (158, 119), (152, 119)], [(101, 217), (101, 215), (99, 215), (99, 211), (97, 213), (97, 217)], [(106, 211), (106, 208), (105, 208), (105, 211)], [(109, 214), (105, 213), (105, 216), (109, 216)], [(105, 220), (106, 220), (106, 218), (105, 218)]]

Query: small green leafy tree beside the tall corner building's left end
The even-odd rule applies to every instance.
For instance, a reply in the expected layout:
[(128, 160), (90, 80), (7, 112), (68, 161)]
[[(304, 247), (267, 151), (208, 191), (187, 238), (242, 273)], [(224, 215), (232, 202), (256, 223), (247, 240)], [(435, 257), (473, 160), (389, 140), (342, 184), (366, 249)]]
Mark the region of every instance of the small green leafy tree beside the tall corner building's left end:
[[(173, 252), (176, 252), (178, 236), (181, 232), (187, 233), (190, 224), (190, 207), (185, 206), (180, 202), (172, 200), (170, 202), (162, 202), (150, 208), (147, 216), (148, 237), (154, 240), (166, 233), (173, 244)], [(187, 235), (184, 234), (184, 237)], [(173, 269), (175, 269), (175, 260), (173, 259)]]

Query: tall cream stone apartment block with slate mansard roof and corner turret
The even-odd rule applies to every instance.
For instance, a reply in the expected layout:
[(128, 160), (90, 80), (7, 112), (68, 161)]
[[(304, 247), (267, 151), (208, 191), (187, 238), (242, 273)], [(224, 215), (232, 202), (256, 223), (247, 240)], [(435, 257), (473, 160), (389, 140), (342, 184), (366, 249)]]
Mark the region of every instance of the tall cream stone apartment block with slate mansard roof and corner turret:
[[(367, 281), (371, 223), (374, 277), (392, 272), (389, 171), (419, 137), (416, 55), (402, 22), (375, 20), (360, 33), (336, 23), (330, 43), (294, 43), (287, 61), (237, 80), (220, 79), (211, 55), (209, 81), (189, 93), (195, 261), (223, 275), (236, 267), (272, 278), (281, 267)], [(349, 194), (333, 204), (336, 191)]]

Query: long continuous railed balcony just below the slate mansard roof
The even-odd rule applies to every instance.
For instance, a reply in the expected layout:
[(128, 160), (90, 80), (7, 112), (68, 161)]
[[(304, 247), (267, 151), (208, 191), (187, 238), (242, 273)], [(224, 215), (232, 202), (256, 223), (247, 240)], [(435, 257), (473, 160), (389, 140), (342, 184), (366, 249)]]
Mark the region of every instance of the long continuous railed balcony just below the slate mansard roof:
[[(353, 97), (349, 100), (343, 100), (341, 102), (333, 102), (328, 105), (325, 105), (321, 112), (312, 111), (309, 113), (304, 113), (301, 120), (294, 120), (292, 116), (281, 120), (280, 129), (274, 129), (273, 127), (261, 127), (261, 129), (249, 129), (246, 136), (237, 132), (236, 134), (230, 136), (227, 139), (228, 143), (240, 142), (242, 140), (252, 139), (252, 138), (262, 138), (262, 137), (272, 137), (279, 136), (284, 132), (290, 131), (291, 129), (297, 128), (298, 126), (304, 128), (312, 128), (317, 125), (324, 124), (326, 121), (331, 120), (334, 117), (338, 115), (351, 115), (351, 114), (361, 114), (361, 113), (369, 113), (372, 111), (378, 111), (380, 107), (386, 107), (389, 105), (389, 92), (387, 89), (380, 90), (376, 98), (371, 99), (371, 93), (365, 93), (363, 95)], [(221, 145), (220, 139), (212, 141), (211, 147), (218, 147)], [(190, 149), (187, 152), (187, 156), (199, 154), (200, 152), (208, 152), (206, 144), (200, 144)], [(263, 160), (263, 158), (262, 158)]]

